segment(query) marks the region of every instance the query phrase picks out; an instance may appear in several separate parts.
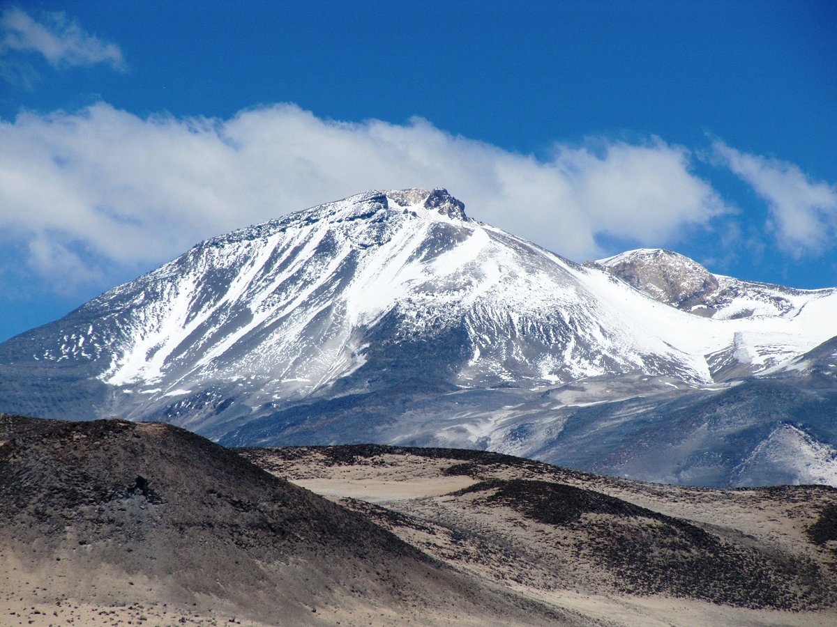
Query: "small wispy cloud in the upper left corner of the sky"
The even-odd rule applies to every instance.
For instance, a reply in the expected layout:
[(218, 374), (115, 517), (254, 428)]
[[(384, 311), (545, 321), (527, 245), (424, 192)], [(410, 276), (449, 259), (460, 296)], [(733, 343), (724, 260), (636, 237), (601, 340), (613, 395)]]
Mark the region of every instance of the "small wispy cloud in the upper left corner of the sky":
[(9, 51), (43, 54), (56, 68), (105, 63), (126, 69), (119, 46), (85, 33), (64, 13), (44, 13), (44, 21), (37, 22), (20, 8), (6, 8), (0, 15), (0, 54)]

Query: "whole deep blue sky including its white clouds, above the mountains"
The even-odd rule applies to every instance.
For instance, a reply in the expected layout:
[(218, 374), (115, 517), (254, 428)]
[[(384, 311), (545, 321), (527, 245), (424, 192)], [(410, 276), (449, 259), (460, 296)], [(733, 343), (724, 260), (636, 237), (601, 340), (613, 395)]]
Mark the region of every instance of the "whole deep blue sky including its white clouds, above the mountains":
[(0, 4), (0, 339), (372, 187), (837, 285), (834, 33), (833, 2)]

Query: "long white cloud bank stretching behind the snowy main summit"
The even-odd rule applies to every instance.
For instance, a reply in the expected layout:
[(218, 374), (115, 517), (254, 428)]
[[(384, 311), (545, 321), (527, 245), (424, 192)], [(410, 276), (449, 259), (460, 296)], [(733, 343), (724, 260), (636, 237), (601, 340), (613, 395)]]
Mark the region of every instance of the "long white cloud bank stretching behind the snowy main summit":
[(204, 237), (375, 188), (447, 187), (472, 217), (578, 260), (612, 252), (597, 236), (665, 245), (726, 211), (689, 151), (656, 138), (556, 145), (539, 161), (426, 120), (350, 124), (292, 104), (229, 120), (104, 103), (24, 113), (0, 120), (0, 145), (0, 232), (37, 242), (28, 263), (46, 276), (91, 259), (147, 268)]

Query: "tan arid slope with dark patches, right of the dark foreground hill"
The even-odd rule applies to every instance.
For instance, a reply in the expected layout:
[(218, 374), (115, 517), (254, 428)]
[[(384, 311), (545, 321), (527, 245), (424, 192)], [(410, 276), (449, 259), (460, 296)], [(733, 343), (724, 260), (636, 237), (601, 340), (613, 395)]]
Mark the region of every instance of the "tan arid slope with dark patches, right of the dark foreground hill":
[(242, 452), (460, 572), (605, 624), (837, 624), (831, 487), (672, 487), (458, 449)]

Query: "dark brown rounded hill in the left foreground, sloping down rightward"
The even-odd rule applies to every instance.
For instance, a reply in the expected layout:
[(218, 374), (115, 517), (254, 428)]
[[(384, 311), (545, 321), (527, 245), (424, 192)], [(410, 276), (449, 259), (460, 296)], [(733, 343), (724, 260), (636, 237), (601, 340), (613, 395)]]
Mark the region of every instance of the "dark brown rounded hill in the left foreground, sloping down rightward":
[(590, 624), (177, 427), (0, 415), (0, 624)]

